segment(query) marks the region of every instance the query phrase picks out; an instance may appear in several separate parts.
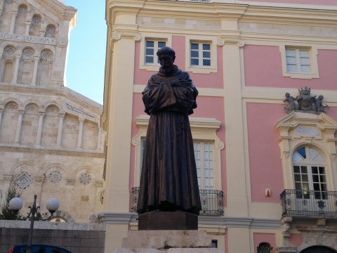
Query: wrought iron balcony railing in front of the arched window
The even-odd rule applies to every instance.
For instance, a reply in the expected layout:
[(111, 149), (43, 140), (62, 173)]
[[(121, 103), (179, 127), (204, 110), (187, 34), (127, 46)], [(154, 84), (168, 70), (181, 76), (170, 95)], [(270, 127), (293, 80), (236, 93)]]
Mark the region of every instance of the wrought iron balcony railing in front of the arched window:
[(282, 216), (319, 216), (337, 218), (337, 192), (289, 190), (281, 194)]

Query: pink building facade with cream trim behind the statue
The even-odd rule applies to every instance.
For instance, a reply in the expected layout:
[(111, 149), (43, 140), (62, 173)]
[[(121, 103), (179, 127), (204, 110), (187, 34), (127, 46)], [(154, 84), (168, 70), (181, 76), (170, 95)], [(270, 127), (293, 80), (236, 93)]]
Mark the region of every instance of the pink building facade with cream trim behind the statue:
[(138, 226), (141, 92), (170, 46), (199, 90), (199, 229), (224, 252), (337, 252), (337, 3), (317, 3), (107, 1), (106, 249)]

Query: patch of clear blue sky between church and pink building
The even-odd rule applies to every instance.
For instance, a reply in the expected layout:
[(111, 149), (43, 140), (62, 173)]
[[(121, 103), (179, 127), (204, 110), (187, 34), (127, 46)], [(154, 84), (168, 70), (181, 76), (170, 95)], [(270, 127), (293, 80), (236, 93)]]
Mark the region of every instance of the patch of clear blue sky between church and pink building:
[(107, 25), (105, 0), (61, 0), (77, 8), (70, 32), (67, 87), (103, 104)]

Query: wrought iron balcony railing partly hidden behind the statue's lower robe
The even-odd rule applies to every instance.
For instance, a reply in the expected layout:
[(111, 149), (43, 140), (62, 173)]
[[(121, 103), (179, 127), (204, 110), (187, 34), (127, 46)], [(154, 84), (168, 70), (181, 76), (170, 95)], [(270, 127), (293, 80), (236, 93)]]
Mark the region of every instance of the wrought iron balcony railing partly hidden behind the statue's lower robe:
[[(137, 212), (139, 187), (132, 188), (133, 205), (131, 212)], [(200, 214), (223, 215), (223, 192), (221, 190), (199, 190), (201, 208)]]

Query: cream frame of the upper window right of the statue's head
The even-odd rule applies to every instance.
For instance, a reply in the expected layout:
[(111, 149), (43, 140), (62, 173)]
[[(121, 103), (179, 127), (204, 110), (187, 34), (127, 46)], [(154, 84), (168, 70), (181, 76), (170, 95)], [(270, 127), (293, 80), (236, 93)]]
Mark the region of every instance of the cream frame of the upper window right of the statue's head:
[[(206, 36), (192, 36), (186, 35), (185, 37), (185, 70), (187, 72), (192, 73), (200, 73), (200, 74), (210, 74), (218, 72), (218, 44), (216, 38), (209, 38)], [(200, 61), (202, 58), (199, 59), (199, 65), (191, 65), (191, 44), (210, 44), (211, 45), (211, 65), (204, 66), (200, 65)], [(200, 47), (199, 47), (200, 50)], [(202, 53), (202, 51), (201, 51)], [(199, 53), (199, 56), (201, 54)]]

